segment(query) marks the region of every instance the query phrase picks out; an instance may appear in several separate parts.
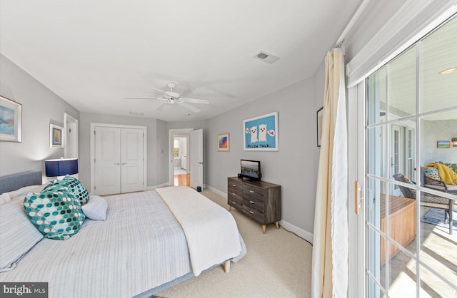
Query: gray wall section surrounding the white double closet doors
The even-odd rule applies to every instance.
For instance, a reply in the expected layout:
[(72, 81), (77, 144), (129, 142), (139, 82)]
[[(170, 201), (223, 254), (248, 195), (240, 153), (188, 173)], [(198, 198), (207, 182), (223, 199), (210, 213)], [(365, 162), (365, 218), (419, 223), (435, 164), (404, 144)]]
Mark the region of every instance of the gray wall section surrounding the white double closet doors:
[[(79, 118), (79, 179), (86, 188), (91, 187), (91, 123), (121, 124), (146, 126), (147, 129), (147, 179), (146, 186), (154, 187), (168, 182), (168, 170), (164, 175), (164, 165), (168, 156), (162, 154), (168, 148), (168, 134), (166, 123), (162, 120), (123, 117), (119, 115), (102, 115), (94, 113), (81, 113)], [(166, 168), (166, 166), (165, 166)]]

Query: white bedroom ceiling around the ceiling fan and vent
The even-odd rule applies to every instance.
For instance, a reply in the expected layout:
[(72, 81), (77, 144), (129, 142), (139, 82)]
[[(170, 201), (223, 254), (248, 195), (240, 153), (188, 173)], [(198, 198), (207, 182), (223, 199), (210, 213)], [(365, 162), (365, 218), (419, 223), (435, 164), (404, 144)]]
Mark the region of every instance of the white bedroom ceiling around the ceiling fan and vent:
[[(0, 52), (82, 113), (204, 120), (313, 76), (358, 3), (1, 0)], [(210, 105), (125, 99), (169, 81)]]

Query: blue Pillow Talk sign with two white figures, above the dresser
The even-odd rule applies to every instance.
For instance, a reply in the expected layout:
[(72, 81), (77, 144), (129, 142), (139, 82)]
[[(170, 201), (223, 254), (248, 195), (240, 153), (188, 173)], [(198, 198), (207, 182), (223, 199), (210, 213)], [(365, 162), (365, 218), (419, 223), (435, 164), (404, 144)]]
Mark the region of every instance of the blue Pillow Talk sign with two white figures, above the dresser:
[(278, 112), (243, 120), (244, 150), (278, 151)]

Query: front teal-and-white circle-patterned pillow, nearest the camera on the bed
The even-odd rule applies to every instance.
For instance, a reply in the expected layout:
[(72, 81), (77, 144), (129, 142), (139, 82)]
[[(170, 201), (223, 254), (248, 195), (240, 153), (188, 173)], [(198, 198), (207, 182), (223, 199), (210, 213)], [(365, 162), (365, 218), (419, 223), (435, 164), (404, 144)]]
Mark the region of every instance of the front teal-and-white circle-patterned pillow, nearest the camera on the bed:
[(54, 240), (76, 235), (86, 219), (79, 201), (65, 190), (29, 192), (24, 199), (24, 210), (41, 234)]

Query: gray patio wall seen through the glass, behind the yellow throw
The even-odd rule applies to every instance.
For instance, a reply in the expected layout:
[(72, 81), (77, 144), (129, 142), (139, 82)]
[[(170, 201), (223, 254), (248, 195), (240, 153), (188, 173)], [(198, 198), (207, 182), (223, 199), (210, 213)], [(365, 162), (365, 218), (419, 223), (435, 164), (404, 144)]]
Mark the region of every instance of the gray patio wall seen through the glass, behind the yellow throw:
[(457, 137), (457, 120), (422, 120), (421, 130), (421, 165), (457, 163), (457, 147), (436, 148), (436, 141)]

